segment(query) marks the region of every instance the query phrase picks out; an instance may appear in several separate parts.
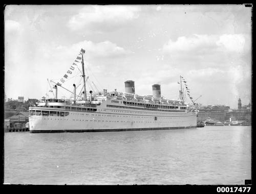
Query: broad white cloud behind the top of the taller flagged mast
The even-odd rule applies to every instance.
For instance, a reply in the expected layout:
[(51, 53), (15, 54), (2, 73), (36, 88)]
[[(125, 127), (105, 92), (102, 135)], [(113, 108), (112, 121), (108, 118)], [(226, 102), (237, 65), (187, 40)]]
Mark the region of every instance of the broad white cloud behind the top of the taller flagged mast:
[[(57, 69), (61, 67), (64, 71), (66, 68), (69, 68), (69, 66), (72, 65), (75, 58), (78, 56), (81, 48), (86, 50), (86, 54), (84, 55), (86, 64), (89, 65), (90, 63), (95, 68), (98, 66), (103, 66), (102, 68), (104, 68), (104, 64), (109, 61), (106, 59), (111, 58), (112, 61), (114, 59), (120, 60), (122, 59), (121, 56), (125, 57), (125, 55), (130, 53), (129, 51), (126, 51), (125, 48), (118, 46), (109, 40), (98, 43), (90, 40), (83, 40), (71, 45), (58, 45), (53, 43), (41, 44), (40, 48), (38, 48), (39, 51), (37, 55), (43, 57), (42, 61), (51, 61), (52, 75), (49, 76), (53, 77), (54, 74), (59, 74), (56, 77), (61, 77), (62, 72), (59, 72)], [(56, 71), (53, 69), (56, 69)]]

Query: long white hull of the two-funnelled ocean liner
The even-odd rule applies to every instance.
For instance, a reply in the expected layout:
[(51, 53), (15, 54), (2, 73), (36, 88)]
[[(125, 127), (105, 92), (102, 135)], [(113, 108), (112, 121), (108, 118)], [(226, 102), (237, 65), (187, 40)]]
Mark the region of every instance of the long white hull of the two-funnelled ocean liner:
[[(116, 111), (116, 110), (109, 110)], [(197, 115), (191, 113), (159, 113), (122, 111), (100, 113), (70, 111), (68, 116), (29, 116), (31, 132), (126, 131), (183, 129), (197, 126)]]

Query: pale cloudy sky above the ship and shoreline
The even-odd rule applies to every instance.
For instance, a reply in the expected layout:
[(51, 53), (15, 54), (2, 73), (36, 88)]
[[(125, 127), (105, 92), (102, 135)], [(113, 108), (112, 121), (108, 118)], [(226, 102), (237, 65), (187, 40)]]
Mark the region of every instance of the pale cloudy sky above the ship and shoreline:
[[(237, 108), (241, 98), (247, 105), (251, 11), (244, 5), (7, 5), (6, 97), (52, 98), (47, 79), (61, 83), (83, 48), (87, 90), (123, 92), (133, 80), (136, 94), (152, 95), (152, 85), (160, 84), (164, 98), (177, 100), (181, 75), (196, 103)], [(78, 63), (62, 86), (73, 90), (81, 69)], [(71, 94), (59, 88), (64, 95)]]

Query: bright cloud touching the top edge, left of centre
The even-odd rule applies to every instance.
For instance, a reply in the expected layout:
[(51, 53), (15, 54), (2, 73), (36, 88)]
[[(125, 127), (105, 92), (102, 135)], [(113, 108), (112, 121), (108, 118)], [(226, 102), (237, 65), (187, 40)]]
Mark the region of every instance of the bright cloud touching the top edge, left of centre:
[(138, 17), (139, 7), (135, 6), (85, 6), (68, 22), (71, 30), (81, 30), (92, 24), (120, 24)]

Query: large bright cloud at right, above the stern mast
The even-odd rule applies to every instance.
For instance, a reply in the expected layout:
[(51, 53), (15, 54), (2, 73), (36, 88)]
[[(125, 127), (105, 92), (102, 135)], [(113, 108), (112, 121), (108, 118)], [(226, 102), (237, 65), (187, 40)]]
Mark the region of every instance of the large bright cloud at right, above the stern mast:
[[(246, 34), (198, 35), (169, 39), (161, 51), (166, 60), (181, 68), (227, 68), (242, 60), (250, 64), (250, 37)], [(182, 64), (182, 65), (180, 65)]]

